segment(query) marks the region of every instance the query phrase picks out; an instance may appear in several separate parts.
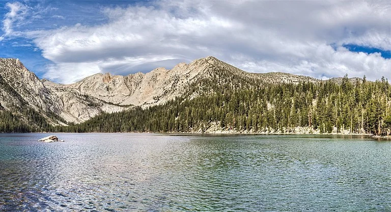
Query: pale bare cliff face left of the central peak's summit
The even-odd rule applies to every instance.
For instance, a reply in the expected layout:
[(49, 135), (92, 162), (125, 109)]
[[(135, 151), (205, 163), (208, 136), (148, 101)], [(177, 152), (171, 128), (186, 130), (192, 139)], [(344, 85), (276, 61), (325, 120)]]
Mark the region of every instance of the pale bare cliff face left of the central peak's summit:
[(186, 92), (186, 86), (204, 74), (213, 61), (217, 59), (210, 57), (190, 64), (180, 63), (171, 70), (156, 68), (127, 76), (98, 73), (69, 87), (114, 104), (148, 106)]

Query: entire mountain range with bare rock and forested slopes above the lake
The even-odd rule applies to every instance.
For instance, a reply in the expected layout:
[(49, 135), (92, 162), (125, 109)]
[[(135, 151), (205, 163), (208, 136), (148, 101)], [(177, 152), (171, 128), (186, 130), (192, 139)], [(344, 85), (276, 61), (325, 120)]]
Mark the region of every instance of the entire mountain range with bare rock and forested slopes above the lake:
[[(0, 59), (0, 131), (376, 133), (387, 131), (387, 80), (322, 81), (250, 73), (214, 57), (63, 85)], [(390, 126), (391, 127), (391, 116)], [(217, 127), (218, 126), (218, 127)]]

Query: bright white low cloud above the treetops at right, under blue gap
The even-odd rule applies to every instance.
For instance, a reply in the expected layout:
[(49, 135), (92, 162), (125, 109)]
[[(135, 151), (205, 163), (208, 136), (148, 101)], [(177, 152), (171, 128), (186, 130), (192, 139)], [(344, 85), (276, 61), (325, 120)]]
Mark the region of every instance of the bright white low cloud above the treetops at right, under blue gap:
[(388, 78), (391, 76), (391, 61), (385, 60), (379, 53), (351, 52), (344, 47), (334, 50), (331, 46), (319, 45), (311, 49), (309, 54), (311, 57), (291, 62), (261, 60), (245, 63), (238, 61), (237, 63), (244, 69), (254, 72), (280, 71), (321, 79), (340, 77), (346, 73), (350, 77), (366, 75), (371, 80), (376, 80), (381, 76)]

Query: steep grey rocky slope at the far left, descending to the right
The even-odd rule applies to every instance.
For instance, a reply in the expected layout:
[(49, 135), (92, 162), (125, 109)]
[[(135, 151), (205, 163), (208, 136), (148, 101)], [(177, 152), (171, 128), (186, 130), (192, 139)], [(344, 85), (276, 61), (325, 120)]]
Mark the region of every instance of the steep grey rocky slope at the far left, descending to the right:
[(40, 81), (18, 59), (0, 59), (0, 105), (21, 119), (27, 112), (39, 114), (52, 125), (79, 123), (102, 111), (123, 110), (68, 86)]

